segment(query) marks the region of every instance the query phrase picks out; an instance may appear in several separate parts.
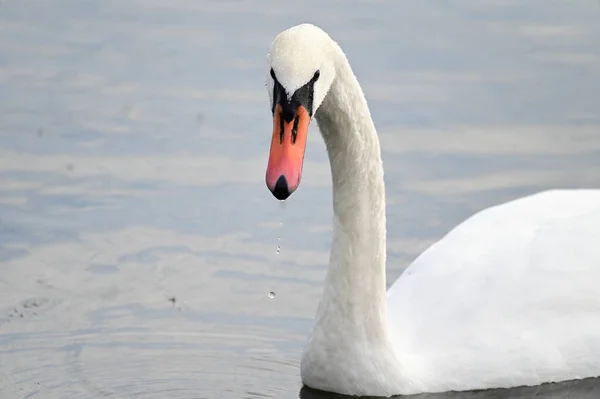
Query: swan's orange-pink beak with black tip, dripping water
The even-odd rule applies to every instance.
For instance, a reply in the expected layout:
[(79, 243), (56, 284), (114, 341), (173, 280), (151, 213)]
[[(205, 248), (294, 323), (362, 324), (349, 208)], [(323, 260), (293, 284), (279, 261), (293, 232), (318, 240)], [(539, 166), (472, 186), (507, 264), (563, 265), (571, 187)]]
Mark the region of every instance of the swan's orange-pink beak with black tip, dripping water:
[(302, 105), (295, 113), (277, 105), (273, 113), (273, 138), (267, 166), (267, 187), (285, 200), (300, 184), (310, 115)]

